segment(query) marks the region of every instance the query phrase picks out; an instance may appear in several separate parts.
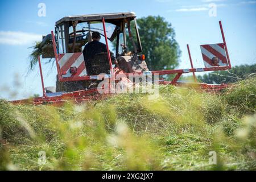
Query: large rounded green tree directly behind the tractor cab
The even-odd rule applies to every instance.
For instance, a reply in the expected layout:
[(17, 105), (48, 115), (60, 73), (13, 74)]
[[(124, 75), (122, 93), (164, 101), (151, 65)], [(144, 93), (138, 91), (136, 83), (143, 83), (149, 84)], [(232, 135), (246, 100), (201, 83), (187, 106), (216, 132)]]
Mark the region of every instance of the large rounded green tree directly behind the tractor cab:
[[(177, 67), (180, 49), (171, 23), (161, 16), (147, 16), (137, 19), (137, 24), (148, 68), (156, 71)], [(131, 44), (127, 46), (133, 50)]]

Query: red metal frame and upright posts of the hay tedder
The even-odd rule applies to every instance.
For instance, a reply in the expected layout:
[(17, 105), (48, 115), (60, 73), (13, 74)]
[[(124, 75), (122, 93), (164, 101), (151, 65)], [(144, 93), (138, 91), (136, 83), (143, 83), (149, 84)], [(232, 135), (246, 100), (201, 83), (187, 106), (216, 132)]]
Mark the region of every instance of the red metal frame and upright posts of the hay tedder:
[[(222, 84), (205, 84), (205, 83), (184, 83), (184, 82), (177, 82), (179, 80), (180, 76), (183, 73), (193, 73), (193, 76), (196, 81), (195, 77), (195, 72), (205, 72), (205, 71), (220, 71), (220, 70), (227, 70), (231, 69), (231, 64), (230, 64), (230, 59), (229, 59), (229, 54), (228, 54), (228, 48), (226, 46), (226, 40), (224, 36), (224, 31), (222, 28), (222, 24), (220, 23), (220, 29), (221, 29), (221, 35), (222, 39), (224, 42), (225, 46), (225, 51), (228, 59), (228, 66), (222, 66), (222, 67), (209, 67), (209, 68), (193, 68), (193, 62), (191, 58), (191, 53), (189, 50), (189, 46), (187, 45), (188, 48), (188, 54), (189, 54), (189, 60), (191, 63), (191, 69), (173, 69), (173, 70), (164, 70), (164, 71), (149, 71), (149, 72), (139, 72), (139, 73), (121, 73), (122, 75), (126, 75), (127, 77), (132, 74), (133, 76), (141, 76), (141, 75), (148, 75), (148, 74), (158, 74), (158, 75), (168, 75), (168, 74), (177, 74), (175, 78), (172, 81), (160, 81), (159, 84), (167, 85), (167, 84), (172, 84), (172, 85), (177, 85), (177, 86), (187, 86), (187, 87), (193, 87), (193, 88), (200, 88), (201, 90), (209, 91), (209, 92), (217, 92), (221, 89), (226, 88), (228, 85)], [(106, 36), (106, 27), (105, 27), (105, 19), (102, 18), (102, 24), (104, 27), (104, 35), (105, 35), (105, 41), (106, 41), (106, 48), (108, 51), (108, 60), (109, 60), (109, 65), (110, 65), (110, 71), (113, 76), (113, 78), (117, 77), (119, 74), (118, 69), (115, 70), (113, 73), (112, 69), (112, 60), (110, 57), (110, 51), (109, 51), (109, 45), (108, 45), (108, 39)], [(57, 66), (57, 74), (59, 81), (80, 81), (80, 80), (96, 80), (97, 76), (81, 76), (81, 77), (71, 77), (71, 78), (62, 78), (60, 75), (60, 67), (59, 67), (59, 60), (58, 60), (58, 54), (57, 54), (57, 49), (56, 49), (56, 42), (55, 42), (55, 37), (53, 34), (53, 31), (51, 32), (52, 34), (52, 45), (53, 45), (53, 51), (55, 55), (55, 61), (56, 61), (56, 66)], [(41, 60), (40, 57), (38, 57), (38, 62), (39, 62), (39, 69), (40, 69), (40, 77), (42, 81), (42, 89), (43, 89), (43, 97), (37, 97), (33, 98), (32, 100), (19, 100), (19, 101), (11, 101), (14, 104), (22, 104), (22, 103), (28, 103), (28, 104), (34, 104), (34, 105), (39, 105), (39, 104), (62, 104), (65, 101), (72, 101), (76, 103), (80, 103), (83, 101), (88, 101), (88, 100), (97, 100), (97, 99), (102, 99), (105, 97), (108, 97), (110, 94), (100, 94), (98, 93), (97, 88), (94, 89), (89, 89), (89, 90), (80, 90), (76, 92), (71, 92), (71, 93), (63, 93), (59, 96), (53, 96), (53, 97), (48, 97), (46, 94), (46, 90), (44, 89), (44, 81), (43, 81), (43, 73), (42, 73), (42, 65), (41, 65)]]

